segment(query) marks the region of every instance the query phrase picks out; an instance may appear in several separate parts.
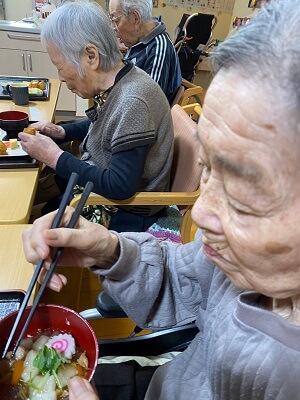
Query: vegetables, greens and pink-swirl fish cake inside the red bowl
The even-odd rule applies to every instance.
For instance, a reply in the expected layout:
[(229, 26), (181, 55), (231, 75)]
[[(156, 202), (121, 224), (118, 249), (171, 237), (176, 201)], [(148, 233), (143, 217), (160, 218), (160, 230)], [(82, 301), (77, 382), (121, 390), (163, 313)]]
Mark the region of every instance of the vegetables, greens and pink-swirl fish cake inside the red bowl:
[[(8, 360), (10, 356), (8, 352)], [(17, 398), (56, 400), (68, 395), (70, 379), (86, 376), (89, 360), (72, 335), (50, 331), (22, 340), (9, 367), (2, 379), (14, 387)]]

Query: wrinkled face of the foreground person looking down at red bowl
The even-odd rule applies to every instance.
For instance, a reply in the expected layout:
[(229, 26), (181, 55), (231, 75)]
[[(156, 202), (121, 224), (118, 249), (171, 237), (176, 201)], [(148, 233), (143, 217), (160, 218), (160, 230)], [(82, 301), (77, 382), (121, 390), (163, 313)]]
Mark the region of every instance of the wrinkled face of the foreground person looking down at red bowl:
[(198, 127), (205, 167), (193, 218), (204, 253), (236, 286), (287, 298), (300, 293), (300, 137), (276, 86), (233, 72), (213, 80)]

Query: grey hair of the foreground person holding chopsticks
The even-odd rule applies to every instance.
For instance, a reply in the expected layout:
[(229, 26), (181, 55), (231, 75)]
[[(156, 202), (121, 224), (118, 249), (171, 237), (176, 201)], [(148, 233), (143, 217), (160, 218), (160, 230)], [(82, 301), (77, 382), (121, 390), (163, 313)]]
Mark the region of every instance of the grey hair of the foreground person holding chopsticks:
[(212, 56), (214, 72), (237, 70), (278, 89), (283, 104), (291, 107), (292, 115), (298, 119), (295, 112), (300, 107), (299, 21), (299, 0), (273, 0), (216, 47)]

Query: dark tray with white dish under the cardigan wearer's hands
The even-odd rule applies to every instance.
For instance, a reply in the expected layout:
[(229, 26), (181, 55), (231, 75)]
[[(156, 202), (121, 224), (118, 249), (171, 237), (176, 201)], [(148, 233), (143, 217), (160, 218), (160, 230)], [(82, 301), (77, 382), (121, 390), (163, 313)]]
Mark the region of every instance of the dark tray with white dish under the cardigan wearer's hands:
[(33, 168), (38, 166), (38, 161), (31, 158), (23, 149), (18, 140), (16, 149), (10, 148), (9, 141), (3, 141), (7, 148), (7, 154), (0, 154), (0, 169), (3, 168)]

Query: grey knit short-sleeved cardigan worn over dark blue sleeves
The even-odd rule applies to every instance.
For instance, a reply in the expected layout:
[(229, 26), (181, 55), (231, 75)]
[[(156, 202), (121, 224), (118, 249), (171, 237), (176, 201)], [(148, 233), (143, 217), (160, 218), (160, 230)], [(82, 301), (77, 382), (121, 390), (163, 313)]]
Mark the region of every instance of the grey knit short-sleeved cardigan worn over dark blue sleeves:
[(109, 168), (114, 153), (149, 146), (138, 191), (169, 190), (173, 160), (173, 124), (161, 88), (144, 71), (133, 67), (112, 88), (97, 111), (82, 148), (82, 160)]

